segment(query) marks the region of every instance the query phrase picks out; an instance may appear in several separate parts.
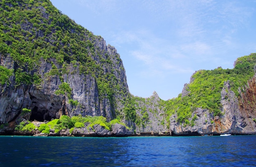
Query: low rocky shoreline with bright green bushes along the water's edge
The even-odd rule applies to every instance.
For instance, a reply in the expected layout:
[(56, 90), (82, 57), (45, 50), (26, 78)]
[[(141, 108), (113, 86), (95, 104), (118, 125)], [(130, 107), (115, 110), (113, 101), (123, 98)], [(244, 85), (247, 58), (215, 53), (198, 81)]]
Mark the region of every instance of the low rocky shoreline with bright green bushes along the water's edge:
[[(42, 131), (41, 125), (46, 125), (49, 121), (28, 121), (22, 119), (22, 128), (19, 126), (21, 123), (15, 121), (9, 122), (8, 125), (0, 128), (1, 136), (67, 136), (67, 137), (129, 137), (129, 136), (220, 136), (220, 134), (227, 133), (231, 135), (256, 135), (256, 133), (234, 133), (230, 131), (197, 131), (196, 129), (184, 129), (184, 131), (169, 130), (165, 132), (160, 131), (132, 131), (125, 124), (114, 123), (106, 127), (101, 124), (91, 124), (85, 122), (83, 127), (72, 128), (57, 128), (56, 125), (47, 125), (48, 131)], [(27, 127), (27, 125), (30, 125)], [(26, 127), (26, 128), (25, 128)], [(58, 127), (58, 126), (57, 126)], [(175, 130), (176, 129), (176, 130)]]

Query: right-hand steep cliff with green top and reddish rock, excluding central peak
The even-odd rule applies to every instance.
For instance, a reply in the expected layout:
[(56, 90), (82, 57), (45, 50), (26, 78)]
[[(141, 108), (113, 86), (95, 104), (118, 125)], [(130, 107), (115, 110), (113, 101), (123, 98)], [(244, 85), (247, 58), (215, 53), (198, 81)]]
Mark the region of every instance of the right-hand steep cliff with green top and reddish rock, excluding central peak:
[[(180, 99), (173, 100), (176, 108), (172, 108), (169, 131), (173, 135), (256, 134), (255, 65), (252, 53), (238, 58), (234, 69), (196, 71)], [(184, 102), (186, 107), (180, 111)]]

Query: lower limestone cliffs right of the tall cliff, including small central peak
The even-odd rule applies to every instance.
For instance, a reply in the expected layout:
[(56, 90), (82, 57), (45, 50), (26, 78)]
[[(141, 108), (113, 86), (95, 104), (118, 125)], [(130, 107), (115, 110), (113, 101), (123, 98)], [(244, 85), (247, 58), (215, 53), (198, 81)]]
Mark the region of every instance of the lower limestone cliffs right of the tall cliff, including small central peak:
[(252, 53), (238, 58), (234, 69), (195, 71), (177, 98), (164, 102), (154, 92), (150, 98), (138, 99), (137, 115), (144, 122), (136, 124), (137, 134), (256, 134), (255, 64)]

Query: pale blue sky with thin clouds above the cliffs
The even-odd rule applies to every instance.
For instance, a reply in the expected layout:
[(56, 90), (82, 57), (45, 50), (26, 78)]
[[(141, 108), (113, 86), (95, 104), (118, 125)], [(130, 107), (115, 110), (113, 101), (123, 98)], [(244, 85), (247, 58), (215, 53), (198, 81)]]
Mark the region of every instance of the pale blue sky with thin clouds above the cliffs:
[(163, 100), (200, 69), (256, 52), (256, 0), (51, 0), (123, 60), (131, 94)]

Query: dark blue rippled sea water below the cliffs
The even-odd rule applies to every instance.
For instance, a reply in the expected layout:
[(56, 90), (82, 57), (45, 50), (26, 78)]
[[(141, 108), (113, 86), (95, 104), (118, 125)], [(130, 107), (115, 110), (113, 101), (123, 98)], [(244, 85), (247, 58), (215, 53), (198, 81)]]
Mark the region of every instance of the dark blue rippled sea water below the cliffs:
[(0, 136), (0, 167), (256, 166), (256, 136)]

